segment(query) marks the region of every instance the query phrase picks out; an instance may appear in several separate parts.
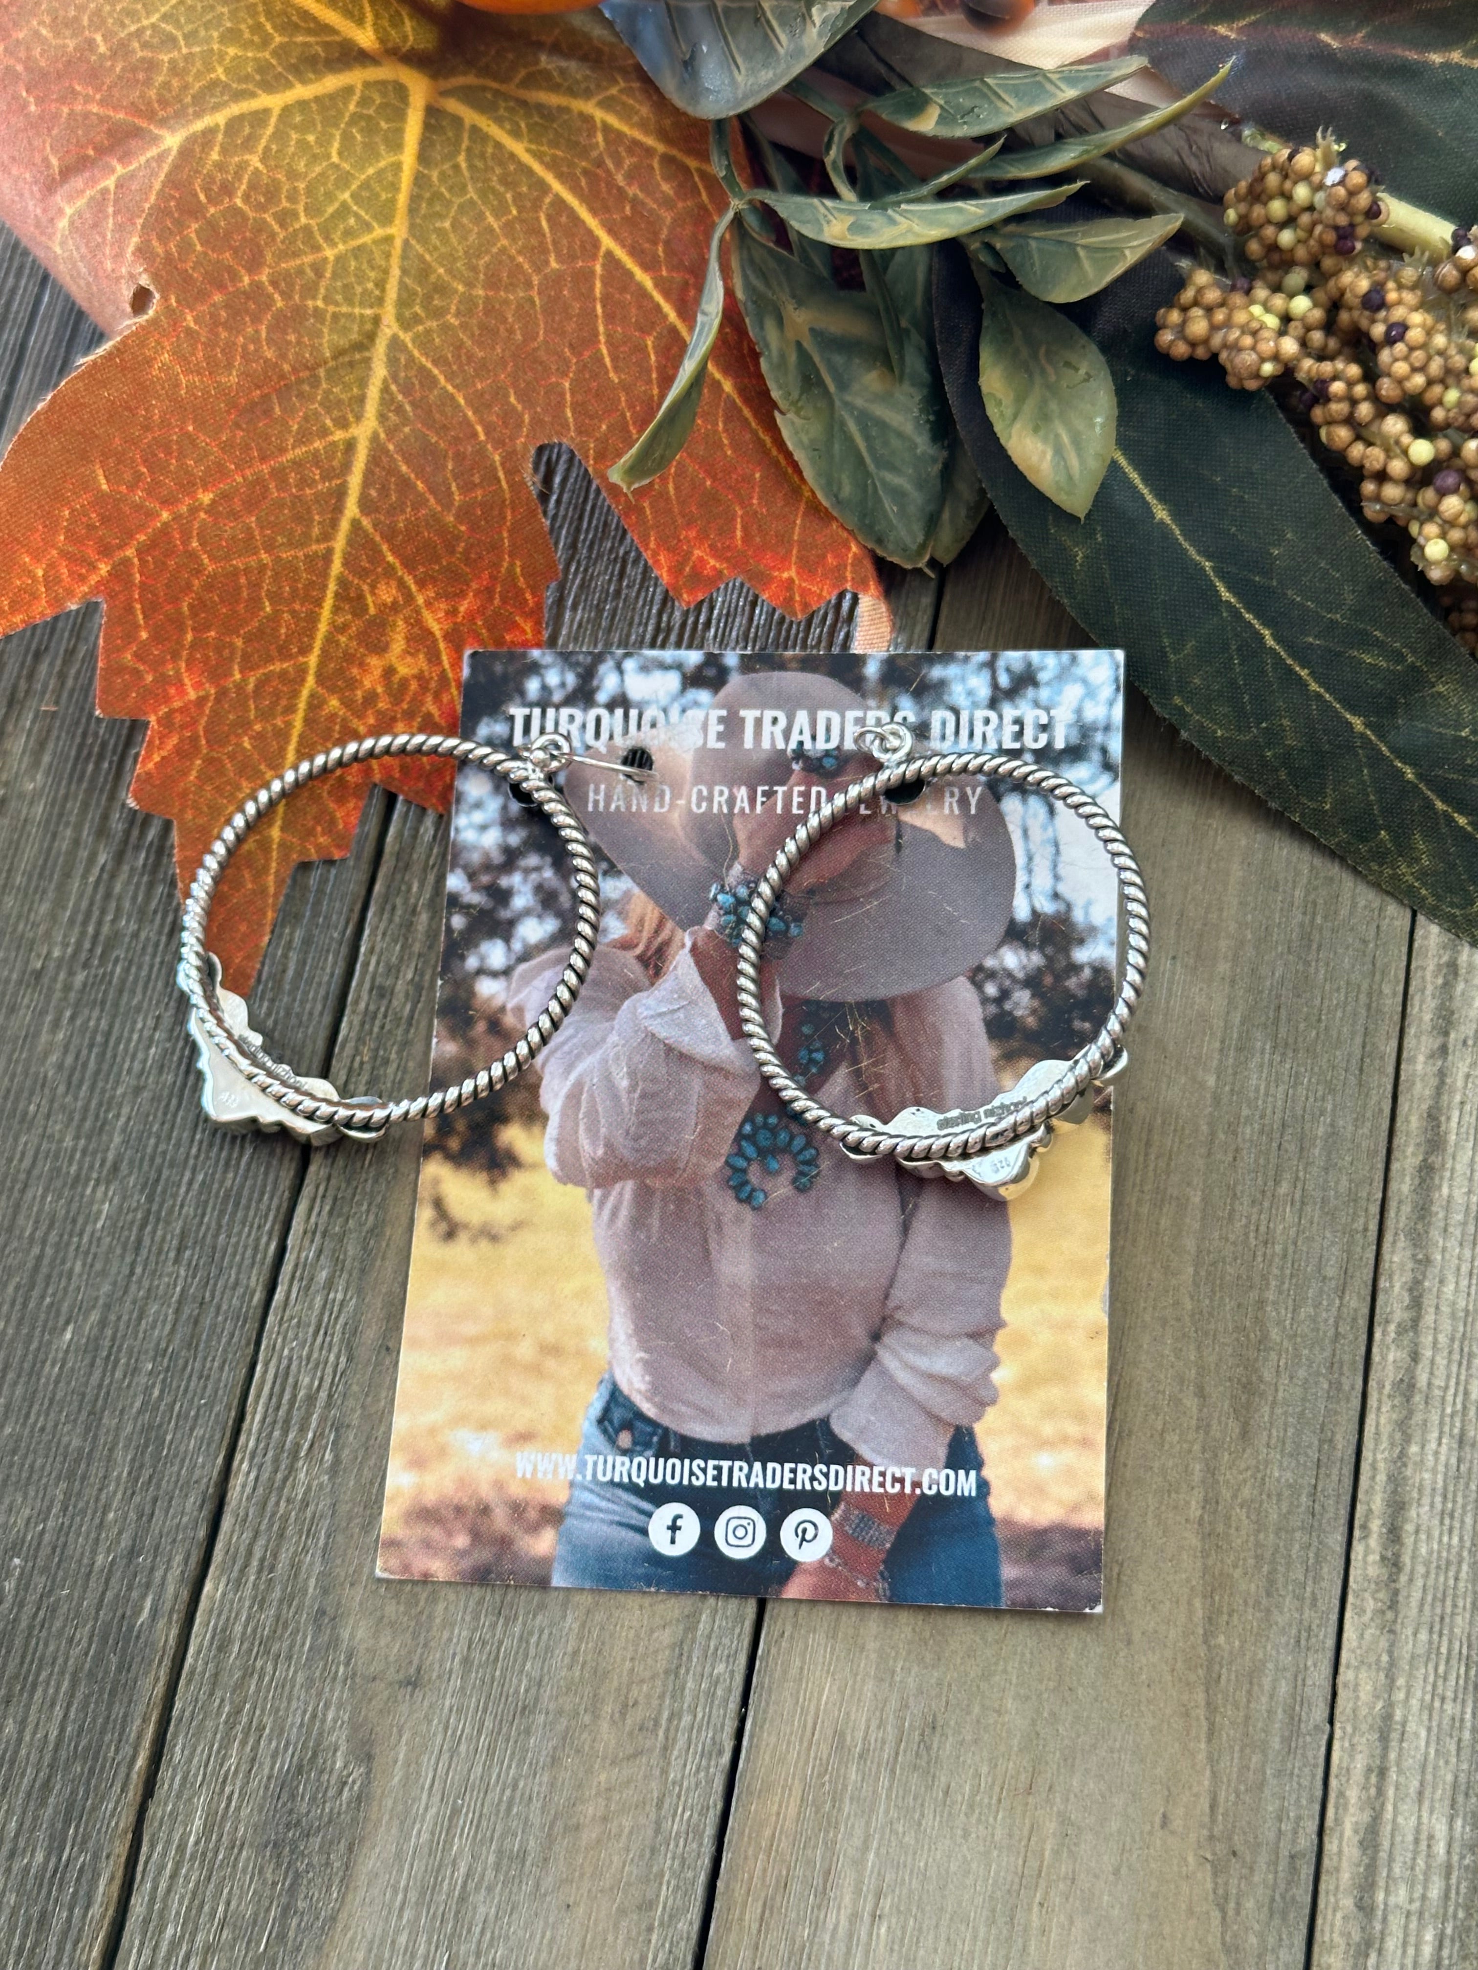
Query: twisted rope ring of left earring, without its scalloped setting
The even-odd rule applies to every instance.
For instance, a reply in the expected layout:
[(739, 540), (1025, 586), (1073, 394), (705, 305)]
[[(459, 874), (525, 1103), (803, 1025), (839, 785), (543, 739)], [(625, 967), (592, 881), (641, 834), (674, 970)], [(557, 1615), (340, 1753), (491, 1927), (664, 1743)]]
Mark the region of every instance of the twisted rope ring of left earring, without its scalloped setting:
[[(495, 1087), (504, 1087), (514, 1080), (544, 1046), (554, 1038), (566, 1015), (579, 997), (585, 983), (595, 940), (601, 928), (601, 883), (589, 837), (579, 825), (573, 808), (564, 798), (550, 774), (566, 764), (570, 747), (566, 741), (536, 741), (524, 753), (499, 753), (491, 745), (475, 745), (471, 739), (451, 739), (439, 733), (384, 733), (376, 739), (357, 739), (353, 745), (337, 745), (329, 753), (315, 753), (313, 758), (300, 760), (280, 778), (260, 786), (250, 800), (231, 816), (201, 861), (195, 881), (185, 898), (185, 918), (179, 940), (179, 989), (191, 1003), (195, 1020), (238, 1074), (280, 1107), (302, 1115), (305, 1121), (341, 1129), (345, 1135), (376, 1137), (392, 1121), (420, 1121), (428, 1115), (449, 1115), (453, 1109), (479, 1101)], [(455, 1087), (441, 1087), (432, 1095), (416, 1095), (414, 1101), (382, 1101), (378, 1095), (357, 1099), (325, 1099), (319, 1087), (307, 1085), (280, 1060), (272, 1060), (250, 1040), (236, 1034), (225, 1018), (215, 979), (215, 959), (205, 948), (205, 926), (211, 914), (211, 898), (225, 875), (227, 863), (236, 853), (256, 823), (282, 806), (302, 786), (311, 786), (329, 772), (343, 766), (359, 766), (376, 758), (449, 758), (457, 764), (485, 766), (516, 788), (528, 806), (538, 808), (554, 821), (564, 841), (575, 883), (575, 936), (550, 1003), (501, 1060), (469, 1074)]]

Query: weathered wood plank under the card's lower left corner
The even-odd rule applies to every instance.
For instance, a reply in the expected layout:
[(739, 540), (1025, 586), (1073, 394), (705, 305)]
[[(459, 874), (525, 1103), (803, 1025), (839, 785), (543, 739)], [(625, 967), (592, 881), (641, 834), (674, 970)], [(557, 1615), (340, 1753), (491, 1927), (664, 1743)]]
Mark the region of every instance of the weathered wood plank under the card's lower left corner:
[[(826, 644), (733, 591), (682, 615), (573, 461), (552, 634)], [(443, 823), (398, 810), (341, 1085), (424, 1072)], [(416, 961), (420, 959), (420, 961)], [(374, 1580), (418, 1145), (313, 1160), (146, 1820), (120, 1964), (688, 1970), (751, 1602)]]

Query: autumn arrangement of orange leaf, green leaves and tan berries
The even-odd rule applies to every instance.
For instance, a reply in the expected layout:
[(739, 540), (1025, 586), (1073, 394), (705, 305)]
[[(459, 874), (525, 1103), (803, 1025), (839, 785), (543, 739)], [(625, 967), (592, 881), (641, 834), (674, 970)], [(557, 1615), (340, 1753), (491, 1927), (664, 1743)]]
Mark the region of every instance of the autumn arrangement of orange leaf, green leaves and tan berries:
[[(540, 443), (684, 603), (881, 597), (993, 504), (1196, 745), (1478, 938), (1478, 24), (1318, 12), (12, 0), (0, 217), (110, 339), (0, 463), (0, 630), (104, 603), (187, 871), (540, 640)], [(238, 985), (361, 798), (233, 869)]]

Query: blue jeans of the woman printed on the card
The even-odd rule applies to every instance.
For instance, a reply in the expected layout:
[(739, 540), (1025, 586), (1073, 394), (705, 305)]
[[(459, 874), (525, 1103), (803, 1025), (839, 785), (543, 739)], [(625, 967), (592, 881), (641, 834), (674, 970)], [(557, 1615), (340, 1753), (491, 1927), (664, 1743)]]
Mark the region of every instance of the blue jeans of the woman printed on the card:
[[(749, 1464), (847, 1466), (855, 1452), (820, 1416), (794, 1430), (755, 1436), (749, 1444), (709, 1444), (682, 1436), (637, 1409), (607, 1375), (585, 1412), (579, 1442), (579, 1476), (570, 1487), (560, 1541), (554, 1550), (556, 1588), (646, 1588), (668, 1594), (778, 1594), (794, 1570), (780, 1546), (780, 1521), (796, 1507), (832, 1513), (840, 1493), (776, 1489), (725, 1489), (684, 1483), (601, 1481), (597, 1464), (613, 1470), (615, 1458), (733, 1460)], [(989, 1507), (989, 1485), (979, 1476), (979, 1444), (974, 1430), (950, 1438), (946, 1468), (974, 1474), (975, 1495), (918, 1497), (889, 1548), (883, 1580), (891, 1602), (932, 1602), (946, 1608), (1001, 1606), (1001, 1550)], [(591, 1472), (587, 1478), (585, 1472)], [(769, 1478), (769, 1470), (765, 1474)], [(851, 1493), (865, 1509), (867, 1499)], [(660, 1554), (646, 1537), (648, 1521), (660, 1505), (690, 1505), (702, 1533), (682, 1556)], [(713, 1525), (725, 1507), (749, 1505), (767, 1529), (765, 1548), (755, 1558), (727, 1558), (713, 1543)]]

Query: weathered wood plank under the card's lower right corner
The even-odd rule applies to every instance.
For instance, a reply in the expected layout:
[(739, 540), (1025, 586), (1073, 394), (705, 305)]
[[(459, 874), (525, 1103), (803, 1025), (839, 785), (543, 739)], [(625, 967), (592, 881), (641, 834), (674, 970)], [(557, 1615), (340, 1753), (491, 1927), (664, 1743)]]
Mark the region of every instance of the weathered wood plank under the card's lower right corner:
[[(987, 534), (938, 638), (1078, 632)], [(709, 1970), (1303, 1966), (1407, 918), (1143, 705), (1127, 827), (1108, 1613), (771, 1608)]]

